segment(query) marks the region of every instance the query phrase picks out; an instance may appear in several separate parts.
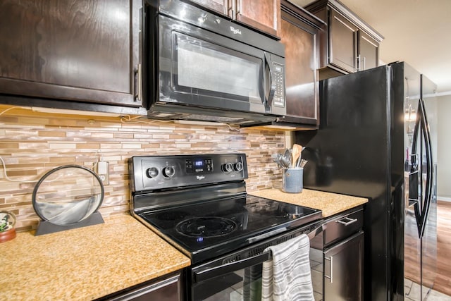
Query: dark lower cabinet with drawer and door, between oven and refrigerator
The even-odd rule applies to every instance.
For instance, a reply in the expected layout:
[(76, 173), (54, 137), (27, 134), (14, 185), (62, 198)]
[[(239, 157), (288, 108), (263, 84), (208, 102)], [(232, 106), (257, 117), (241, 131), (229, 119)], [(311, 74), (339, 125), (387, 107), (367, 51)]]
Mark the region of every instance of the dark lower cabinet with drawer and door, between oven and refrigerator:
[(363, 300), (363, 207), (331, 216), (324, 225), (322, 235), (311, 240), (315, 300)]

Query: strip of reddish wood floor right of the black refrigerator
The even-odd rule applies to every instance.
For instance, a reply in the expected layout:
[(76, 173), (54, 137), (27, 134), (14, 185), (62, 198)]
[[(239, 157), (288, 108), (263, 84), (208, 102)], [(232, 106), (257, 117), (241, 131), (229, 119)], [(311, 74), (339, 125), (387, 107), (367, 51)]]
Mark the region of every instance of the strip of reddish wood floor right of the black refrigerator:
[(434, 290), (451, 296), (451, 202), (438, 201), (437, 277)]

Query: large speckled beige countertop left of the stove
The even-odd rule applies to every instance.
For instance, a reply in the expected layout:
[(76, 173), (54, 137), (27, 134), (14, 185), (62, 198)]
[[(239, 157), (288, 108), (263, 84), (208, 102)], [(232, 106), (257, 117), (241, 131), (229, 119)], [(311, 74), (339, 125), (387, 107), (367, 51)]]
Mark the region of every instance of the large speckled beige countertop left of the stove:
[(0, 244), (0, 300), (93, 300), (178, 271), (190, 259), (128, 214)]

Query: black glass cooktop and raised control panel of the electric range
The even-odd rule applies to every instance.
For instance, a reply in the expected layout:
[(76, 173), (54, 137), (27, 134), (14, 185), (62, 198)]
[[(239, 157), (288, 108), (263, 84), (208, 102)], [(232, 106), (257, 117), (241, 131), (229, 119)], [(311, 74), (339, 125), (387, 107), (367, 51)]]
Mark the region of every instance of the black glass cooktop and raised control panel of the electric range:
[(245, 154), (133, 156), (131, 212), (190, 257), (214, 259), (321, 219), (321, 211), (247, 195)]

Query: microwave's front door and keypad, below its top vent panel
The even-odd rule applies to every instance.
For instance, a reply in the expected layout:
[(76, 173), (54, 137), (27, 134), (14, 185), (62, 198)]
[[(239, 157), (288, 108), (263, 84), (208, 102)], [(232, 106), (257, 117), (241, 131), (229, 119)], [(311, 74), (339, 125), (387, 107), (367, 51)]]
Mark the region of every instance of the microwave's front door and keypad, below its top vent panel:
[(157, 26), (154, 102), (285, 115), (282, 57), (163, 15)]

